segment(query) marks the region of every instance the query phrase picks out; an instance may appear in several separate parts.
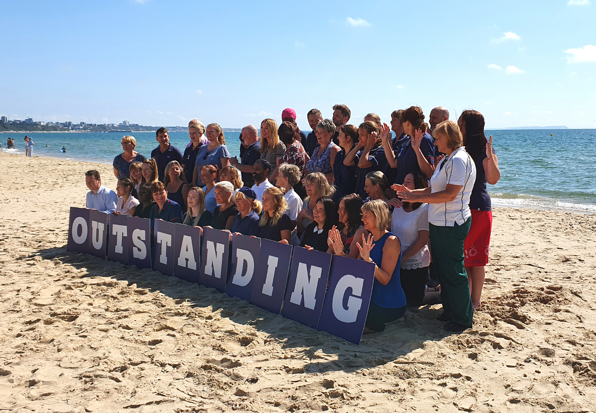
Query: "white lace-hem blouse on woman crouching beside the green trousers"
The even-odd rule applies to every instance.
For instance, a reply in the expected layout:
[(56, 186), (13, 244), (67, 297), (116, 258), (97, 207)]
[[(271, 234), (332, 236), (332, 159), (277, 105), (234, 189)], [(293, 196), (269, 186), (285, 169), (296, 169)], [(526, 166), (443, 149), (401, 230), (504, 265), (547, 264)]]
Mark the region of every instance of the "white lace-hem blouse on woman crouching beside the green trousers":
[[(417, 239), (418, 231), (429, 230), (429, 204), (422, 204), (412, 212), (405, 212), (403, 208), (393, 209), (391, 215), (391, 232), (398, 237), (402, 245), (402, 253), (406, 251)], [(425, 244), (423, 249), (408, 259), (402, 259), (403, 270), (414, 270), (430, 265), (429, 247)]]

